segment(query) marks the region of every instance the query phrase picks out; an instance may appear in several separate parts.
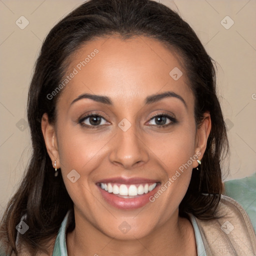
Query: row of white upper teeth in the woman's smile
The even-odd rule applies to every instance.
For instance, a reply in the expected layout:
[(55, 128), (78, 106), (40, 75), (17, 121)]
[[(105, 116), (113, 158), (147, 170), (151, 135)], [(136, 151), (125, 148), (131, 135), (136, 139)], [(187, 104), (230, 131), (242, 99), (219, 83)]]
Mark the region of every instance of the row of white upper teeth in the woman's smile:
[(156, 183), (148, 185), (146, 184), (139, 184), (136, 186), (135, 184), (132, 185), (125, 185), (120, 184), (119, 186), (117, 184), (111, 184), (111, 183), (100, 183), (100, 187), (107, 191), (108, 193), (113, 194), (119, 194), (119, 195), (129, 195), (129, 196), (135, 196), (138, 194), (148, 193), (152, 191), (156, 186)]

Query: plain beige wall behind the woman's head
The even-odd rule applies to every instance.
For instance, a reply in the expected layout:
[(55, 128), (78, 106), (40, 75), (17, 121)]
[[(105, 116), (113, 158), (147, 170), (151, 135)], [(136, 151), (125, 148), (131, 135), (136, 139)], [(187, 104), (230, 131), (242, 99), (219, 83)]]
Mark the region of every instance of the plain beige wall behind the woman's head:
[[(0, 0), (0, 213), (31, 153), (25, 109), (41, 42), (63, 15), (82, 2)], [(256, 171), (256, 0), (161, 2), (181, 14), (217, 63), (218, 93), (231, 151), (230, 173), (226, 175), (224, 166), (223, 178), (252, 174)], [(29, 21), (24, 29), (15, 24), (21, 15)], [(234, 21), (229, 29), (221, 24), (227, 15)], [(232, 21), (224, 18), (222, 22), (229, 26)]]

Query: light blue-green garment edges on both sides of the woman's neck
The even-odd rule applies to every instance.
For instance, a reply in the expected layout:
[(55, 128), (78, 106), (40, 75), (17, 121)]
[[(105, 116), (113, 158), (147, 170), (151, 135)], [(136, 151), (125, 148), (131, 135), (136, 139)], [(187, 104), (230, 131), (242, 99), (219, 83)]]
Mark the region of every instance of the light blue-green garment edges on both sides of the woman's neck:
[[(66, 229), (69, 222), (70, 211), (68, 211), (61, 223), (61, 226), (58, 230), (58, 234), (55, 240), (52, 256), (67, 256), (66, 249)], [(189, 215), (190, 221), (194, 228), (196, 247), (197, 247), (197, 255), (198, 256), (206, 256), (205, 248), (203, 245), (202, 237), (196, 223), (195, 217), (193, 215)]]

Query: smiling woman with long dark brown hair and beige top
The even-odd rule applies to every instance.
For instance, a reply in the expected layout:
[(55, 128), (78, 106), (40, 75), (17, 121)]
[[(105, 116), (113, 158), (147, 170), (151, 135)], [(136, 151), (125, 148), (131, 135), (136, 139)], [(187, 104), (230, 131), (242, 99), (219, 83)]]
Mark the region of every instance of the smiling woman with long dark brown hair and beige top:
[(254, 255), (221, 195), (228, 149), (211, 58), (150, 0), (90, 0), (43, 42), (33, 155), (1, 222), (4, 255)]

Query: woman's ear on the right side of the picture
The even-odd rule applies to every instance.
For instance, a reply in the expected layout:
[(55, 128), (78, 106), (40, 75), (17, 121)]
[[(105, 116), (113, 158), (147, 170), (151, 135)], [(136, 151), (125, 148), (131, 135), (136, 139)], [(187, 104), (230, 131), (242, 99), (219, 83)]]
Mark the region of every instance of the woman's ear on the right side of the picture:
[[(210, 134), (211, 129), (211, 120), (210, 120), (210, 114), (208, 111), (206, 111), (203, 114), (203, 120), (199, 124), (196, 130), (195, 135), (195, 154), (198, 157), (198, 160), (202, 159), (202, 156), (205, 152), (206, 145), (207, 145), (207, 139)], [(193, 168), (196, 168), (198, 166), (197, 161), (193, 161)]]

